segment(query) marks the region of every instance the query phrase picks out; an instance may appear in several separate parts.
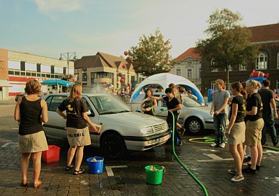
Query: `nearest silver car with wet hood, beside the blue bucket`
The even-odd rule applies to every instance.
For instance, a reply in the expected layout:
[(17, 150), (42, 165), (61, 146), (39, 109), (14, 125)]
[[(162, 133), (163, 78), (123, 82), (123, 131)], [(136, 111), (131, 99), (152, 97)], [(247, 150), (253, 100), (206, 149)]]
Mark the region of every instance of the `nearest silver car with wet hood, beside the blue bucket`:
[[(56, 108), (68, 97), (68, 93), (44, 96), (49, 121), (44, 130), (47, 138), (67, 138), (66, 119), (56, 113)], [(126, 150), (145, 151), (169, 140), (166, 121), (147, 114), (132, 112), (120, 100), (107, 94), (84, 93), (82, 98), (89, 107), (89, 117), (101, 127), (100, 134), (90, 132), (93, 146), (100, 146), (109, 158), (121, 158)]]

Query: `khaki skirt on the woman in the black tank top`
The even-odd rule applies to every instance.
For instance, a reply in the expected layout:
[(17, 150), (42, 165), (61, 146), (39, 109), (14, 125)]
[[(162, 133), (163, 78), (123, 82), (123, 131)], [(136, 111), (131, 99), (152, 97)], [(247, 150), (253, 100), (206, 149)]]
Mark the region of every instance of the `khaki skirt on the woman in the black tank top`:
[(18, 135), (18, 144), (20, 153), (36, 153), (48, 150), (43, 130), (29, 135)]

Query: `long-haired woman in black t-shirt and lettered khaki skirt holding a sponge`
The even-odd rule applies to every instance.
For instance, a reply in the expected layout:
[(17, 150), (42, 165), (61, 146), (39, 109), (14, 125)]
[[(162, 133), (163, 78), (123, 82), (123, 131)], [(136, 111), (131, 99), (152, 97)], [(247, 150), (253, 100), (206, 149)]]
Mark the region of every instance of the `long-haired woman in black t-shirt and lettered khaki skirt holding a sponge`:
[[(63, 111), (66, 110), (66, 114)], [(82, 174), (84, 169), (80, 168), (83, 158), (84, 146), (91, 144), (89, 135), (89, 128), (97, 132), (96, 126), (93, 125), (86, 112), (89, 109), (84, 99), (82, 99), (82, 84), (74, 84), (70, 89), (70, 96), (63, 100), (61, 105), (57, 108), (56, 112), (62, 116), (66, 121), (67, 137), (70, 144), (68, 150), (68, 163), (66, 170), (70, 170), (74, 167), (72, 165), (73, 158), (75, 156), (75, 172), (73, 174)], [(77, 151), (75, 155), (75, 151)]]

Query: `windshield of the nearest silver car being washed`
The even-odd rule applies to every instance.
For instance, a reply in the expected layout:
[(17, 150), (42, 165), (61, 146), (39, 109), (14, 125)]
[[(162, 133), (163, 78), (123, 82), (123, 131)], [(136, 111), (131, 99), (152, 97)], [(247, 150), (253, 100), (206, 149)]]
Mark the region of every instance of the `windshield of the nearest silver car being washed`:
[(89, 98), (100, 115), (131, 112), (129, 107), (122, 103), (121, 100), (112, 96), (91, 96)]

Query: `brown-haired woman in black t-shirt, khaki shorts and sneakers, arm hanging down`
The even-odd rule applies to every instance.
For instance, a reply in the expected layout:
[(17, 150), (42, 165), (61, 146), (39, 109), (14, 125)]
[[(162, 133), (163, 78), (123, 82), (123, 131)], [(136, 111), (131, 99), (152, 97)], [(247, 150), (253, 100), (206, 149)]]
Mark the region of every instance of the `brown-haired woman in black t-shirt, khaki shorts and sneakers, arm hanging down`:
[(232, 98), (232, 104), (230, 105), (229, 126), (226, 131), (226, 134), (229, 135), (229, 152), (234, 157), (235, 166), (235, 169), (229, 169), (227, 171), (229, 174), (235, 174), (231, 181), (244, 180), (242, 175), (242, 163), (244, 158), (243, 142), (245, 141), (246, 126), (243, 120), (245, 103), (241, 91), (243, 91), (241, 83), (234, 82), (234, 84), (232, 84), (232, 94), (234, 98)]

